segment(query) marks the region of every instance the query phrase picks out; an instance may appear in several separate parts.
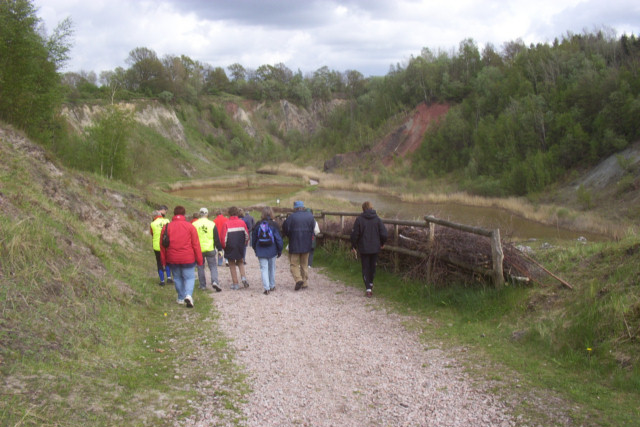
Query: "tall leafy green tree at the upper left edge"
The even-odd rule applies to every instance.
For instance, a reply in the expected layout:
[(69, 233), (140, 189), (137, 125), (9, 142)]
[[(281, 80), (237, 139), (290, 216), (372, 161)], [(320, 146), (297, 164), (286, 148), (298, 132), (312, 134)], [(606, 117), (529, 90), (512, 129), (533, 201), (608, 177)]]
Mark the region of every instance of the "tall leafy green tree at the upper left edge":
[(62, 100), (58, 67), (67, 58), (71, 21), (51, 38), (28, 0), (0, 0), (0, 119), (43, 135)]

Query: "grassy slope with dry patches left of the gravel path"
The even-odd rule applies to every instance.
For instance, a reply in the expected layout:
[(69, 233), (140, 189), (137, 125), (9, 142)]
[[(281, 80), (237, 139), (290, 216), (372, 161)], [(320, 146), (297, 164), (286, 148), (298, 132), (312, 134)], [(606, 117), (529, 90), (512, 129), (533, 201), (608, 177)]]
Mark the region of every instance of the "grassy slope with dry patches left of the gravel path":
[(174, 425), (203, 394), (238, 423), (247, 387), (211, 300), (186, 310), (157, 285), (150, 212), (174, 200), (14, 148), (0, 144), (0, 424)]

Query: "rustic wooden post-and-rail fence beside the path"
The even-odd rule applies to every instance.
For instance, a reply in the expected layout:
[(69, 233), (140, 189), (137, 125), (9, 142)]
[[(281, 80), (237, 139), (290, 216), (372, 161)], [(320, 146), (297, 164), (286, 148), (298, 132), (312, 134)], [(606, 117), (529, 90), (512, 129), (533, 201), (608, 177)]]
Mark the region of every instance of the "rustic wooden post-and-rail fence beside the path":
[[(359, 213), (352, 213), (352, 212), (330, 212), (330, 211), (321, 211), (315, 214), (316, 218), (321, 219), (322, 221), (322, 234), (325, 236), (329, 236), (329, 237), (334, 237), (334, 238), (338, 238), (338, 239), (344, 239), (344, 240), (349, 240), (350, 236), (346, 235), (346, 234), (342, 234), (342, 233), (332, 233), (332, 232), (326, 232), (324, 230), (327, 229), (326, 225), (327, 225), (327, 217), (328, 216), (338, 216), (340, 217), (340, 229), (343, 230), (344, 229), (344, 219), (345, 217), (356, 217), (359, 216)], [(409, 255), (409, 256), (414, 256), (414, 257), (418, 257), (418, 258), (428, 258), (429, 254), (423, 251), (415, 251), (415, 250), (411, 250), (411, 249), (407, 249), (407, 248), (403, 248), (399, 246), (399, 242), (400, 242), (400, 235), (398, 232), (398, 227), (403, 225), (403, 226), (409, 226), (409, 227), (419, 227), (419, 228), (428, 228), (429, 229), (429, 243), (433, 242), (433, 239), (435, 238), (435, 227), (436, 225), (439, 226), (443, 226), (443, 227), (449, 227), (449, 228), (453, 228), (455, 230), (459, 230), (459, 231), (464, 231), (467, 233), (473, 233), (473, 234), (477, 234), (480, 236), (485, 236), (488, 237), (491, 241), (491, 259), (492, 259), (492, 269), (491, 270), (487, 270), (487, 269), (483, 269), (481, 267), (478, 266), (473, 266), (473, 265), (468, 265), (468, 264), (464, 264), (460, 261), (454, 260), (454, 259), (447, 259), (447, 258), (443, 258), (443, 261), (448, 262), (450, 264), (453, 265), (457, 265), (459, 267), (465, 268), (467, 270), (471, 270), (475, 273), (478, 274), (482, 274), (482, 275), (489, 275), (491, 276), (493, 283), (496, 287), (500, 288), (504, 285), (504, 272), (503, 272), (503, 261), (504, 261), (504, 253), (502, 251), (502, 242), (500, 241), (500, 230), (499, 229), (493, 229), (493, 230), (487, 230), (484, 228), (479, 228), (479, 227), (472, 227), (469, 225), (464, 225), (464, 224), (457, 224), (455, 222), (450, 222), (450, 221), (446, 221), (443, 219), (439, 219), (430, 215), (427, 215), (424, 217), (424, 221), (404, 221), (404, 220), (398, 220), (398, 219), (386, 219), (386, 218), (381, 218), (382, 222), (384, 224), (391, 224), (393, 225), (393, 239), (392, 239), (392, 245), (386, 244), (384, 246), (383, 250), (387, 250), (390, 252), (393, 252), (393, 262), (394, 262), (394, 267), (396, 269), (396, 271), (398, 270), (398, 265), (399, 265), (399, 257), (398, 254), (404, 254), (404, 255)], [(391, 240), (391, 239), (389, 239)], [(389, 243), (389, 241), (387, 241), (387, 243)]]

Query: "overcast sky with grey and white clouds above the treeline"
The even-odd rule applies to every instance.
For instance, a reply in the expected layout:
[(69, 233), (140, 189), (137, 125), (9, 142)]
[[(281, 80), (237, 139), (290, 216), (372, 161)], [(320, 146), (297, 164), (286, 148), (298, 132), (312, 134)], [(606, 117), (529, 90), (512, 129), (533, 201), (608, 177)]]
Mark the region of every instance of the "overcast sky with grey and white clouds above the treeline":
[(385, 75), (423, 47), (479, 49), (522, 39), (552, 43), (602, 28), (640, 35), (639, 0), (34, 0), (50, 33), (73, 21), (64, 71), (127, 68), (136, 47), (187, 55), (214, 67), (284, 63)]

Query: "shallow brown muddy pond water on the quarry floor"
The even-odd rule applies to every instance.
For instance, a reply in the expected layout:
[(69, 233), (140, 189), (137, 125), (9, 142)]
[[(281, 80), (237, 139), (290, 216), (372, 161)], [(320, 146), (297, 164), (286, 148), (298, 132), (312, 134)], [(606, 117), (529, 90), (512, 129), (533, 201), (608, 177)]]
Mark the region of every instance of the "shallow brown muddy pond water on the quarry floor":
[[(278, 198), (290, 197), (299, 188), (292, 186), (264, 186), (260, 188), (194, 188), (177, 190), (174, 194), (208, 202), (265, 202), (275, 205)], [(464, 206), (454, 203), (413, 203), (403, 202), (393, 196), (345, 190), (318, 189), (313, 193), (318, 201), (332, 197), (349, 201), (353, 211), (359, 212), (362, 202), (369, 200), (378, 214), (384, 218), (422, 219), (425, 215), (484, 228), (499, 228), (504, 239), (524, 241), (538, 239), (544, 241), (576, 240), (585, 237), (588, 241), (602, 241), (597, 234), (571, 231), (559, 227), (529, 221), (507, 211), (490, 207)], [(323, 207), (310, 203), (311, 207)]]

